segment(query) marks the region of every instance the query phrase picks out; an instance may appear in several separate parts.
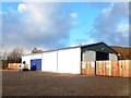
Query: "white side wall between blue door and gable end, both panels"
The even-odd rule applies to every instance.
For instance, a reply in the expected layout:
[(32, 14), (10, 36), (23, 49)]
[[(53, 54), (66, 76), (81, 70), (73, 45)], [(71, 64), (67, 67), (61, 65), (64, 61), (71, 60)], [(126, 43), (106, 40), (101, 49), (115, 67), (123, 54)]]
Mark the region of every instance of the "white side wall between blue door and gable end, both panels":
[(41, 71), (80, 74), (81, 48), (44, 52)]

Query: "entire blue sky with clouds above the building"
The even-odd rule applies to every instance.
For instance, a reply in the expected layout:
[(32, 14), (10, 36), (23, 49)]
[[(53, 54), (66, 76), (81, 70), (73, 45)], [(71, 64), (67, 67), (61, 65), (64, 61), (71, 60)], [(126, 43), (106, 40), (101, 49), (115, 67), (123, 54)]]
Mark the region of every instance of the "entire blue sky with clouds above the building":
[(129, 46), (127, 2), (2, 2), (2, 48), (29, 53), (104, 41)]

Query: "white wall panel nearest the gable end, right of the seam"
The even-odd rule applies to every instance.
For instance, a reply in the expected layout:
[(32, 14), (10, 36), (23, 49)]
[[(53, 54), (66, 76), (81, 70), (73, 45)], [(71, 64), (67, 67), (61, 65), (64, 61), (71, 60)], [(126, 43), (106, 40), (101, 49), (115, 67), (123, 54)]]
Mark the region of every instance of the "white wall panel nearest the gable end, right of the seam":
[(58, 72), (73, 74), (81, 73), (81, 48), (58, 51)]

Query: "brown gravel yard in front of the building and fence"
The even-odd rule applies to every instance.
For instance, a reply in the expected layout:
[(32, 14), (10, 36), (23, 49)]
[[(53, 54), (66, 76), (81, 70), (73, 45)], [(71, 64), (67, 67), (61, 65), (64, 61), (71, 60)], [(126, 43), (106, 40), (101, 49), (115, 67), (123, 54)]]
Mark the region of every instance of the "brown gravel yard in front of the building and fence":
[(2, 96), (129, 96), (129, 78), (2, 71)]

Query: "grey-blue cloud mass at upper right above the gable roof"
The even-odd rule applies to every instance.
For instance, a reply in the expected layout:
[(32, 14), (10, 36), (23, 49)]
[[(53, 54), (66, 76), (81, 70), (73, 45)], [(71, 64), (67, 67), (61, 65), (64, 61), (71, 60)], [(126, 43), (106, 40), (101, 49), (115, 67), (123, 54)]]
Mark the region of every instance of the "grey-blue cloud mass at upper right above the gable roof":
[(122, 20), (129, 19), (128, 5), (126, 2), (118, 2), (103, 10), (102, 14), (95, 20), (93, 37), (96, 41), (129, 46), (129, 23), (127, 21), (124, 24), (119, 24)]

